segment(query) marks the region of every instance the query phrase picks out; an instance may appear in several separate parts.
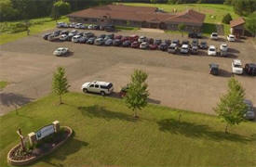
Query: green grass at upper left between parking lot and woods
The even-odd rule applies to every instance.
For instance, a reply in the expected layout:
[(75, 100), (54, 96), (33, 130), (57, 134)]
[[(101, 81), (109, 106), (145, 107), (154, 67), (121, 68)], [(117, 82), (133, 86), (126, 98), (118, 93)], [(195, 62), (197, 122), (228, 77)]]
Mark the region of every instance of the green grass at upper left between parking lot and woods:
[[(42, 18), (42, 19), (31, 19), (30, 20), (33, 25), (30, 27), (30, 34), (36, 34), (39, 32), (45, 32), (47, 30), (51, 30), (56, 27), (56, 21), (50, 18)], [(63, 17), (58, 21), (68, 21), (67, 18)], [(14, 22), (1, 22), (0, 24), (11, 24)], [(9, 32), (2, 32), (0, 34), (0, 45), (7, 44), (9, 42), (15, 41), (22, 37), (27, 36), (27, 32), (17, 32), (17, 33), (9, 33)]]

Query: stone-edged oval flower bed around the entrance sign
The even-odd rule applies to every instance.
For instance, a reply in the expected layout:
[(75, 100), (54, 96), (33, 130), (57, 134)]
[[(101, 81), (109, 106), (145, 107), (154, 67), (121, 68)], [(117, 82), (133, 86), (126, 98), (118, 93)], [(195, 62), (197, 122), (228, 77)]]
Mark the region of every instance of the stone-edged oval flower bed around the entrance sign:
[(36, 161), (59, 148), (72, 133), (73, 131), (70, 127), (62, 126), (60, 132), (48, 135), (34, 147), (26, 145), (25, 151), (22, 150), (19, 144), (8, 152), (7, 161), (12, 165), (26, 165)]

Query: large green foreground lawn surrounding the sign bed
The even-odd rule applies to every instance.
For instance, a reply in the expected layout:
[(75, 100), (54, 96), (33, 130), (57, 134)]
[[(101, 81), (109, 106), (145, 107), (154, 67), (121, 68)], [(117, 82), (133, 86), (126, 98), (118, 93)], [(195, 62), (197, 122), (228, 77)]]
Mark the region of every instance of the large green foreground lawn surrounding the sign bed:
[[(0, 166), (19, 143), (16, 130), (36, 131), (59, 120), (74, 137), (32, 166), (256, 166), (256, 126), (243, 122), (223, 133), (216, 117), (149, 105), (135, 121), (119, 99), (69, 93), (64, 105), (47, 96), (0, 117)], [(182, 113), (181, 122), (178, 121)]]

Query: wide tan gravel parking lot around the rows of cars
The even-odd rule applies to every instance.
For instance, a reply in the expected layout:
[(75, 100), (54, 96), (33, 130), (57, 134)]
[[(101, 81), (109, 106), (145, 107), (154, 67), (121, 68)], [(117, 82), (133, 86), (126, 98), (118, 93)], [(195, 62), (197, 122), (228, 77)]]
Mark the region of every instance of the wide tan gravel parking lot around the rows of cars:
[[(90, 31), (96, 34), (108, 33)], [(138, 34), (160, 39), (182, 40), (180, 34), (163, 32), (117, 32), (123, 35)], [(48, 42), (42, 34), (22, 38), (7, 45), (1, 45), (0, 78), (10, 84), (0, 92), (1, 114), (19, 107), (31, 100), (46, 96), (51, 91), (52, 73), (58, 66), (67, 71), (71, 89), (81, 92), (82, 83), (101, 80), (113, 82), (118, 92), (129, 81), (134, 69), (149, 74), (150, 101), (172, 108), (189, 109), (214, 114), (219, 97), (227, 89), (231, 77), (231, 61), (256, 62), (256, 49), (248, 40), (228, 43), (224, 39), (211, 41), (209, 45), (227, 43), (230, 58), (199, 55), (181, 56), (162, 51), (140, 50), (115, 46), (74, 44), (72, 42)], [(187, 39), (187, 37), (183, 37)], [(68, 47), (72, 53), (67, 58), (57, 58), (52, 52), (59, 46)], [(218, 63), (220, 76), (209, 74), (209, 63)], [(246, 89), (247, 98), (256, 104), (256, 79), (246, 75), (236, 78)]]

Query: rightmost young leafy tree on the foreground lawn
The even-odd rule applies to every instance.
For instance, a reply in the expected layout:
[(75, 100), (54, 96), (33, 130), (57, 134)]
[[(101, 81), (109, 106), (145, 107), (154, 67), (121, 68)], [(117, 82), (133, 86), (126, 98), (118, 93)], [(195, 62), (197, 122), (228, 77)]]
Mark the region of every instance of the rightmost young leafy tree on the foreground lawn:
[(245, 90), (240, 83), (232, 77), (228, 82), (228, 92), (221, 97), (220, 103), (215, 108), (215, 112), (226, 122), (225, 133), (228, 131), (228, 126), (239, 124), (244, 121), (244, 114), (247, 110), (247, 105), (244, 103)]

